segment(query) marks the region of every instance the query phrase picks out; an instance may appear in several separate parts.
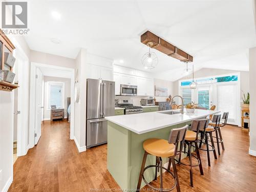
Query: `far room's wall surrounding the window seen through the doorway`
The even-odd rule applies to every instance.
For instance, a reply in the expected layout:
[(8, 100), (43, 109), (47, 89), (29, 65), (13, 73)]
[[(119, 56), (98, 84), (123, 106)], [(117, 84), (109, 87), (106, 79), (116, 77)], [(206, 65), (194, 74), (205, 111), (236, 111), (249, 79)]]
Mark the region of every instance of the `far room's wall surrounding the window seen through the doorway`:
[(64, 110), (65, 110), (65, 118), (67, 118), (67, 97), (70, 97), (71, 92), (70, 92), (70, 79), (68, 78), (60, 78), (60, 77), (49, 77), (49, 76), (44, 76), (44, 81), (45, 81), (45, 91), (44, 91), (44, 120), (50, 120), (51, 118), (51, 110), (48, 109), (47, 106), (47, 101), (48, 101), (48, 86), (47, 82), (49, 81), (54, 81), (54, 82), (64, 82), (65, 83), (65, 95), (64, 95)]

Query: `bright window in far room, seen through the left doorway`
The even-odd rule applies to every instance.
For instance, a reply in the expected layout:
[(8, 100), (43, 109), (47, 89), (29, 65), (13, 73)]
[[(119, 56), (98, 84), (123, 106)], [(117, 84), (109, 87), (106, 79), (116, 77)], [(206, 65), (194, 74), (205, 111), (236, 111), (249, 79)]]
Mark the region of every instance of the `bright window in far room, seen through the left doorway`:
[(48, 94), (48, 108), (51, 109), (51, 105), (56, 105), (57, 108), (64, 108), (64, 85), (63, 82), (48, 82), (49, 94)]

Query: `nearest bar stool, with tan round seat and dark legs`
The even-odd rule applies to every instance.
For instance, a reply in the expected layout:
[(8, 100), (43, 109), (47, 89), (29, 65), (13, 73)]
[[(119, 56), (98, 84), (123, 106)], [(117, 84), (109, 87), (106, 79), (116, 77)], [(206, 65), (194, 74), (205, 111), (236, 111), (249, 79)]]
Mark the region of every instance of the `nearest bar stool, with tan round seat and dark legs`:
[[(183, 126), (178, 129), (172, 129), (170, 131), (168, 141), (164, 140), (164, 139), (147, 139), (143, 142), (144, 157), (142, 160), (139, 181), (138, 181), (138, 185), (137, 185), (137, 191), (140, 190), (141, 181), (143, 179), (143, 181), (146, 183), (146, 185), (150, 186), (151, 188), (153, 188), (155, 190), (170, 191), (176, 187), (177, 191), (180, 192), (180, 184), (179, 184), (179, 179), (178, 179), (178, 174), (177, 174), (177, 169), (176, 169), (176, 164), (175, 164), (175, 156), (179, 155), (182, 151), (187, 127), (188, 127), (188, 125)], [(178, 146), (180, 146), (179, 151), (178, 151)], [(145, 167), (147, 155), (156, 156), (156, 159), (157, 159), (156, 165), (148, 165)], [(170, 162), (173, 163), (174, 173), (170, 172), (169, 168), (167, 169), (167, 168), (163, 167), (162, 157), (168, 157), (170, 159)], [(160, 188), (154, 187), (153, 185), (148, 183), (144, 178), (145, 170), (150, 167), (156, 167), (156, 169), (158, 169), (158, 170), (160, 169)], [(163, 175), (162, 175), (163, 169), (165, 169), (167, 173), (172, 175), (172, 177), (175, 180), (175, 184), (169, 189), (163, 188)], [(156, 174), (157, 174), (157, 172), (156, 172)], [(155, 180), (156, 180), (156, 178), (157, 178), (157, 175), (155, 175)]]

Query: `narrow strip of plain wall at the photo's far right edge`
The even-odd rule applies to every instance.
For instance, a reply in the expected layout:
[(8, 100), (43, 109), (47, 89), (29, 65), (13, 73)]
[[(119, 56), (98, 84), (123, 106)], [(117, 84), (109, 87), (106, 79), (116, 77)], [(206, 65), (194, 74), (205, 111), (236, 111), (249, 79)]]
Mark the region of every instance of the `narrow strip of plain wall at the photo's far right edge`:
[(256, 47), (249, 49), (250, 68), (250, 148), (249, 154), (256, 156)]

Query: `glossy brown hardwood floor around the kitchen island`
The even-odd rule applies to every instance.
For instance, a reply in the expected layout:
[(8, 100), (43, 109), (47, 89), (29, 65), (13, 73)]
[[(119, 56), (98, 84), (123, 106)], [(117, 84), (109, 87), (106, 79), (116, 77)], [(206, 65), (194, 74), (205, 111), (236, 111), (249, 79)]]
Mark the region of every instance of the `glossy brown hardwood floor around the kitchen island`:
[[(204, 176), (194, 167), (193, 188), (189, 185), (189, 167), (177, 165), (181, 191), (255, 191), (256, 157), (248, 155), (248, 132), (227, 125), (222, 135), (225, 151), (218, 160), (211, 154), (211, 167), (208, 167), (206, 152), (200, 151)], [(106, 169), (106, 147), (101, 145), (79, 154), (75, 142), (69, 139), (67, 121), (45, 121), (38, 145), (16, 160), (14, 180), (8, 191), (118, 189)], [(164, 187), (172, 182), (164, 174)], [(154, 182), (157, 183), (159, 179)]]

